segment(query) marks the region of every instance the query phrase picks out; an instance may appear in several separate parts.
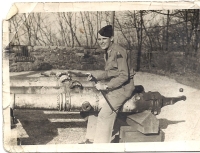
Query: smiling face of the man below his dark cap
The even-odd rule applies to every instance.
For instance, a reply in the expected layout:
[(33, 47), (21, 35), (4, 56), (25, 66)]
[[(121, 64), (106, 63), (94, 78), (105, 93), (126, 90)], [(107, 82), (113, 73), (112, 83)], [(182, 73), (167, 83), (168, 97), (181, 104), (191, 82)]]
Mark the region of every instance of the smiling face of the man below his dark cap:
[(113, 37), (109, 38), (109, 37), (104, 37), (104, 36), (101, 36), (99, 33), (98, 33), (98, 43), (101, 47), (101, 49), (108, 49), (108, 47), (110, 47), (112, 41), (113, 41)]

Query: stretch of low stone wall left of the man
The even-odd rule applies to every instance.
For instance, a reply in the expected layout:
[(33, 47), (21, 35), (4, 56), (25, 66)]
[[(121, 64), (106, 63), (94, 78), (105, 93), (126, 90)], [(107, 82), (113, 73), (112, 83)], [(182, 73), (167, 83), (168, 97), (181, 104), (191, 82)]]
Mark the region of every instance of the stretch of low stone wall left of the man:
[[(50, 69), (101, 70), (104, 69), (103, 51), (83, 47), (34, 46), (29, 50), (33, 62), (16, 61), (20, 49), (10, 48), (10, 72), (40, 71)], [(23, 55), (21, 55), (23, 56)]]

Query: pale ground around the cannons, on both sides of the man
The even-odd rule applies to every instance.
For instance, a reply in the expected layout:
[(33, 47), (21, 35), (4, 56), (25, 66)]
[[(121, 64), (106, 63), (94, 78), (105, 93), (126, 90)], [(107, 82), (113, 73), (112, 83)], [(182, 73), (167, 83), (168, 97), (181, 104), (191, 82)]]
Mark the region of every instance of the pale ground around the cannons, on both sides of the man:
[[(95, 73), (95, 72), (94, 72)], [(11, 73), (11, 76), (37, 77), (40, 73)], [(165, 133), (164, 142), (200, 141), (200, 90), (165, 76), (144, 72), (135, 75), (135, 84), (143, 85), (145, 91), (159, 91), (166, 97), (187, 97), (174, 105), (163, 107), (157, 115), (160, 128)], [(183, 92), (179, 89), (183, 88)], [(15, 110), (18, 120), (16, 130), (22, 145), (77, 144), (84, 140), (86, 121), (79, 113)]]

